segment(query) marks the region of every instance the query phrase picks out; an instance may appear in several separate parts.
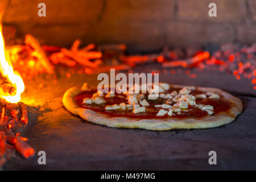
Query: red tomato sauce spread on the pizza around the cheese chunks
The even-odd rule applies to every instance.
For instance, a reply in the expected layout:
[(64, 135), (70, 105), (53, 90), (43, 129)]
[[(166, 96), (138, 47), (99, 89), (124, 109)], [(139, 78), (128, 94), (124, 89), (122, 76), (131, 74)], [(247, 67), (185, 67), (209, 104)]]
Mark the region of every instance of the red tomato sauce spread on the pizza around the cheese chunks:
[[(166, 93), (171, 93), (173, 90), (180, 90), (180, 89), (170, 89)], [(156, 114), (161, 109), (161, 107), (155, 107), (155, 105), (162, 105), (166, 99), (158, 98), (157, 100), (146, 100), (150, 104), (150, 106), (146, 107), (146, 112), (144, 113), (137, 113), (134, 114), (133, 110), (105, 110), (106, 105), (113, 105), (113, 104), (121, 104), (122, 102), (127, 103), (126, 95), (125, 94), (117, 94), (115, 93), (116, 97), (113, 98), (105, 98), (107, 101), (106, 104), (96, 105), (96, 104), (82, 104), (84, 98), (91, 98), (93, 93), (97, 92), (97, 90), (92, 90), (90, 92), (82, 92), (78, 96), (75, 97), (77, 105), (83, 107), (85, 109), (91, 109), (96, 112), (100, 112), (102, 114), (108, 115), (110, 118), (112, 117), (127, 117), (127, 118), (137, 118), (137, 119), (156, 119), (156, 118), (204, 118), (207, 117), (207, 111), (202, 111), (199, 108), (189, 106), (188, 111), (181, 111), (181, 114), (172, 115), (172, 117), (168, 116), (167, 114), (163, 117), (156, 117)], [(191, 92), (193, 96), (196, 94), (201, 94), (203, 92), (199, 90), (194, 90)], [(228, 111), (231, 108), (231, 104), (229, 101), (225, 100), (224, 98), (220, 99), (196, 99), (196, 104), (204, 104), (204, 105), (211, 105), (214, 109), (214, 114), (218, 114), (222, 111)]]

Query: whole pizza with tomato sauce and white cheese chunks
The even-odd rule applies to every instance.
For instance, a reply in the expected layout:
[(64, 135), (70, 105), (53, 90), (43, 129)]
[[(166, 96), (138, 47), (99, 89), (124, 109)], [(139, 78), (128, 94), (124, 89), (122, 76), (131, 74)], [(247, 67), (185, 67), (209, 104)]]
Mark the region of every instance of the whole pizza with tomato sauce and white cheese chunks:
[(99, 125), (159, 131), (217, 127), (242, 112), (239, 98), (217, 88), (159, 83), (158, 91), (157, 99), (151, 98), (154, 93), (105, 94), (84, 83), (68, 89), (63, 104), (71, 113)]

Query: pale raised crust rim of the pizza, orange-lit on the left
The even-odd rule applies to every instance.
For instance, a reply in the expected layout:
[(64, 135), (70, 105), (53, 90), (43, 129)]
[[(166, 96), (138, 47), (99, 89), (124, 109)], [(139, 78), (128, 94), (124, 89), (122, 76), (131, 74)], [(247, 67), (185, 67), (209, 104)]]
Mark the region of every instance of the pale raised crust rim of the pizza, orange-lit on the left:
[[(173, 88), (180, 88), (183, 85), (172, 85)], [(81, 93), (81, 89), (73, 87), (68, 89), (63, 96), (64, 106), (75, 115), (79, 115), (82, 119), (105, 125), (109, 127), (123, 127), (130, 129), (147, 129), (147, 130), (171, 130), (171, 129), (206, 129), (225, 125), (234, 121), (236, 116), (242, 112), (242, 101), (216, 88), (197, 87), (203, 92), (214, 92), (224, 96), (226, 100), (231, 102), (232, 106), (228, 111), (221, 112), (215, 115), (208, 115), (202, 119), (196, 118), (164, 118), (164, 119), (134, 119), (126, 117), (109, 117), (90, 109), (85, 109), (77, 106), (75, 96)]]

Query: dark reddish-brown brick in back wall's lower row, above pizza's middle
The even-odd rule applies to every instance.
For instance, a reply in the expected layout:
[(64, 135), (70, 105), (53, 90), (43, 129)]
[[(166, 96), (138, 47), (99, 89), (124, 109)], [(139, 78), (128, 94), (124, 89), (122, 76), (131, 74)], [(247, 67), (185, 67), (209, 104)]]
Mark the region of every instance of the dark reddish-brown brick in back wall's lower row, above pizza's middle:
[(163, 28), (152, 22), (103, 22), (98, 24), (97, 43), (125, 43), (131, 51), (162, 49)]

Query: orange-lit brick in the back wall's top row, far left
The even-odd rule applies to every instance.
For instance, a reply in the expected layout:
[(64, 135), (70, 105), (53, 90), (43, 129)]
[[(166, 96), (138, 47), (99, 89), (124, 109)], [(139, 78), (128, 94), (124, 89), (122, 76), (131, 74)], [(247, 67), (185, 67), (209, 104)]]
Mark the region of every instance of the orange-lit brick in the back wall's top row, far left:
[(31, 24), (75, 24), (94, 22), (98, 19), (102, 9), (101, 0), (73, 1), (45, 0), (46, 17), (38, 16), (40, 0), (12, 0), (4, 16), (5, 23)]

